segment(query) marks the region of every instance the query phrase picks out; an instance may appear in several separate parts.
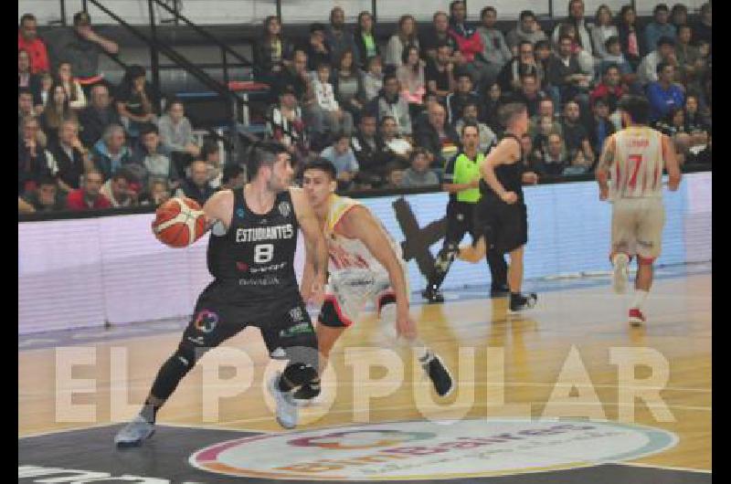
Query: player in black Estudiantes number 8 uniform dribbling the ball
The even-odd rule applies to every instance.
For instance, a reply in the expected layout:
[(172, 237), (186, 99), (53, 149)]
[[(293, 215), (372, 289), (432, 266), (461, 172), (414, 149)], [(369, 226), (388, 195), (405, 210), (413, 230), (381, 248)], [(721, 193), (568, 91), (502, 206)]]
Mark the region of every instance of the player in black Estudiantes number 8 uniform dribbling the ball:
[(154, 432), (158, 409), (205, 352), (249, 325), (260, 328), (272, 358), (288, 362), (270, 381), (281, 426), (297, 425), (291, 394), (318, 384), (317, 339), (294, 272), (297, 230), (315, 267), (311, 292), (322, 293), (327, 248), (313, 209), (301, 189), (290, 188), (290, 154), (263, 144), (249, 160), (250, 182), (208, 199), (208, 270), (214, 277), (196, 302), (192, 320), (175, 353), (160, 368), (143, 409), (114, 438), (139, 445)]

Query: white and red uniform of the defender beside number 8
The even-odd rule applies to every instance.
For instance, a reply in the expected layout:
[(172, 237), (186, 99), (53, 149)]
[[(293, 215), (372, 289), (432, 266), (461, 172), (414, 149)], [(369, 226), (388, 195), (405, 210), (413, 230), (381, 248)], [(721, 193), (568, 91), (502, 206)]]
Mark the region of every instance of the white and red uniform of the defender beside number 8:
[[(393, 300), (393, 290), (388, 272), (373, 257), (365, 244), (358, 239), (347, 238), (335, 233), (335, 227), (343, 216), (360, 202), (345, 196), (331, 195), (330, 210), (324, 226), (324, 236), (330, 254), (328, 271), (330, 277), (325, 288), (325, 300), (332, 300), (338, 317), (346, 326), (355, 322), (368, 300), (373, 300), (380, 310), (383, 303)], [(401, 247), (388, 235), (388, 241), (401, 258)]]

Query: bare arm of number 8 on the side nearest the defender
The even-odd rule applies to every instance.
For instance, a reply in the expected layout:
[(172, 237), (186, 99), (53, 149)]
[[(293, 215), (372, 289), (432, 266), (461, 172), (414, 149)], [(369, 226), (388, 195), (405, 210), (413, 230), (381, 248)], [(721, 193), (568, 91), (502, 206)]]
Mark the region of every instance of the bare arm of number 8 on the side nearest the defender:
[[(327, 243), (313, 207), (302, 188), (290, 188), (294, 213), (302, 229), (306, 247), (305, 273), (302, 276), (302, 299), (321, 298), (327, 271)], [(308, 268), (309, 267), (309, 268)]]

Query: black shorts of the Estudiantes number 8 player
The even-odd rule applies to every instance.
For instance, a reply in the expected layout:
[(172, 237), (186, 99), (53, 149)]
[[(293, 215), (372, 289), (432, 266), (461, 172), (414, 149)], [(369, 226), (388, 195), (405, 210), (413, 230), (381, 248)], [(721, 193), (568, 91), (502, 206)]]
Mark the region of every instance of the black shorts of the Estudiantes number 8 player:
[(196, 302), (193, 317), (181, 343), (199, 351), (217, 347), (248, 326), (260, 329), (271, 358), (292, 359), (295, 348), (317, 350), (313, 322), (301, 297), (278, 301), (281, 311), (233, 304), (224, 297), (226, 288), (209, 286)]

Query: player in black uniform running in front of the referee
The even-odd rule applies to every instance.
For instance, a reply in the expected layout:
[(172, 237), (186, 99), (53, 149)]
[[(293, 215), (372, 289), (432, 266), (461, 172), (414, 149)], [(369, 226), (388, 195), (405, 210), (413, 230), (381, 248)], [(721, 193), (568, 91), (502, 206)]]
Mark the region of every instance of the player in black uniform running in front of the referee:
[(538, 299), (534, 292), (521, 293), (523, 252), (528, 241), (528, 220), (523, 197), (523, 183), (535, 183), (537, 175), (524, 172), (520, 137), (528, 129), (528, 112), (522, 102), (509, 102), (500, 111), (506, 130), (503, 139), (482, 163), (480, 192), (475, 206), (474, 226), (479, 234), (473, 246), (460, 247), (462, 260), (477, 262), (487, 247), (510, 254), (508, 285), (509, 312), (532, 308)]

